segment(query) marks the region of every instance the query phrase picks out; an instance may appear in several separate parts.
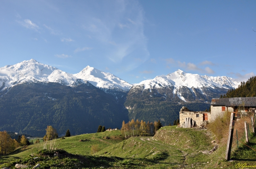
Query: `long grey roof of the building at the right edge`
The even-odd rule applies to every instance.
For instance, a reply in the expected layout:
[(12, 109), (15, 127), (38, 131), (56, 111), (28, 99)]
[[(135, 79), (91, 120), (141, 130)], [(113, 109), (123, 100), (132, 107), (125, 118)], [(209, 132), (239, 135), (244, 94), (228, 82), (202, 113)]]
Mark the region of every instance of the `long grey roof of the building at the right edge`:
[(213, 98), (211, 105), (256, 107), (256, 97)]

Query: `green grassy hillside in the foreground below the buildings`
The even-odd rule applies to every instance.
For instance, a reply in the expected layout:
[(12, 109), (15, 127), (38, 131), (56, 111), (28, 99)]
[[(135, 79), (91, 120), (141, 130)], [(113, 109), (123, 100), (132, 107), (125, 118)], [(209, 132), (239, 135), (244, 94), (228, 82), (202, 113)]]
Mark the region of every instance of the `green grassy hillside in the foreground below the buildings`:
[[(107, 139), (108, 137), (109, 139)], [(88, 141), (79, 141), (79, 140)], [(208, 153), (215, 140), (206, 129), (162, 127), (154, 137), (132, 137), (123, 140), (120, 131), (82, 134), (57, 139), (55, 145), (62, 148), (60, 156), (40, 151), (40, 144), (20, 148), (8, 156), (0, 157), (0, 168), (16, 163), (42, 164), (41, 168), (236, 168), (237, 163), (255, 165), (256, 151), (240, 144), (232, 148), (233, 162), (224, 160), (226, 145)], [(90, 150), (97, 147), (94, 154)], [(256, 149), (256, 137), (249, 146)], [(33, 148), (34, 147), (34, 148)], [(30, 154), (34, 154), (32, 157)], [(39, 157), (39, 159), (33, 159)], [(32, 168), (31, 167), (31, 168)]]

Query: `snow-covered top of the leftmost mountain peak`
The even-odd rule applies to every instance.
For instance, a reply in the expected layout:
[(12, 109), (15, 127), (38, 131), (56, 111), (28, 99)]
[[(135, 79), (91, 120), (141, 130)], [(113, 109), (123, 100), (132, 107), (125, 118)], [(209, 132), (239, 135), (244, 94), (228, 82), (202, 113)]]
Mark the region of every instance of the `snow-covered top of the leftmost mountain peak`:
[(85, 83), (72, 74), (63, 72), (53, 66), (41, 64), (34, 59), (0, 68), (1, 90), (27, 81), (58, 82), (66, 86)]

